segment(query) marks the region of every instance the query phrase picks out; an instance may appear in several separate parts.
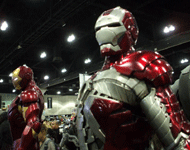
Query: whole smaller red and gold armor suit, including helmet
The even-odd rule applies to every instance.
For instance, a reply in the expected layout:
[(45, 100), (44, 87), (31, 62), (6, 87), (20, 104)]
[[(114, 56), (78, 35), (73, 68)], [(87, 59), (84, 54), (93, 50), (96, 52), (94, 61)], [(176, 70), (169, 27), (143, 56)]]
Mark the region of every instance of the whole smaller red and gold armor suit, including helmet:
[(39, 150), (37, 135), (41, 129), (44, 99), (33, 80), (33, 71), (20, 66), (12, 73), (12, 83), (22, 92), (12, 102), (8, 118), (14, 141), (14, 150)]

